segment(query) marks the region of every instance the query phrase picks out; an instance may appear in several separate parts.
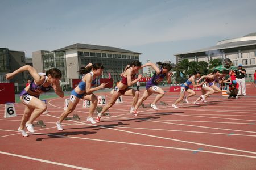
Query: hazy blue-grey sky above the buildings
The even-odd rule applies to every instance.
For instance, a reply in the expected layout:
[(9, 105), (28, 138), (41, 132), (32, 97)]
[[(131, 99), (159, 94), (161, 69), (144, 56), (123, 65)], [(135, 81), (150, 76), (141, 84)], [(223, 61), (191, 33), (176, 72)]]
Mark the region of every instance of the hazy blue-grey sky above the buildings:
[(82, 43), (138, 53), (142, 63), (256, 32), (255, 0), (0, 0), (0, 48), (56, 50)]

